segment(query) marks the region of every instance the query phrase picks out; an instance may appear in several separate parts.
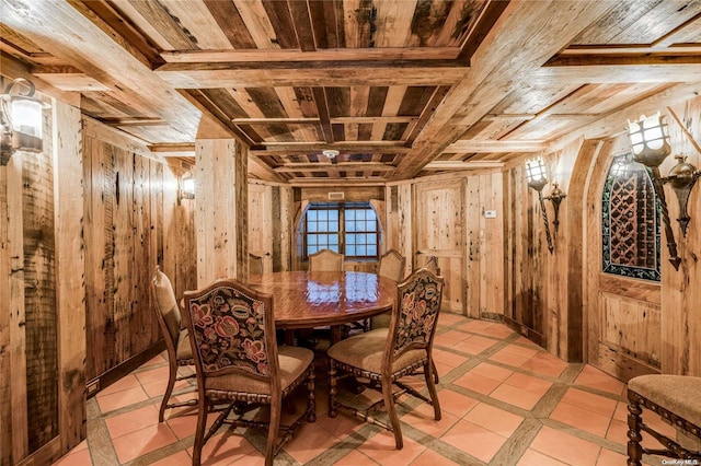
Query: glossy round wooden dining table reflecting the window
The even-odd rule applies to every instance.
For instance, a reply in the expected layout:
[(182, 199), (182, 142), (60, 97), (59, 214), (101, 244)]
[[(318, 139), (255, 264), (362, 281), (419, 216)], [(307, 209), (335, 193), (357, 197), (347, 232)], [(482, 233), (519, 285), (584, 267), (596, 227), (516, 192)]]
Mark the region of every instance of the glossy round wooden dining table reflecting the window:
[(332, 342), (342, 324), (390, 311), (397, 283), (357, 271), (283, 271), (249, 277), (249, 284), (273, 294), (275, 325), (281, 329), (331, 326)]

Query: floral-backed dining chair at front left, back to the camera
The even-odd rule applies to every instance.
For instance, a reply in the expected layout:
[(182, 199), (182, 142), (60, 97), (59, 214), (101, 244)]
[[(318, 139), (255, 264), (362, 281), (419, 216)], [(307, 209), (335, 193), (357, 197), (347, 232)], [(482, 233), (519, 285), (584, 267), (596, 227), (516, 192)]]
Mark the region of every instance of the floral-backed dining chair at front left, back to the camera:
[[(273, 296), (234, 280), (219, 279), (197, 291), (185, 292), (183, 318), (189, 330), (200, 399), (193, 448), (193, 465), (199, 465), (202, 448), (223, 424), (267, 428), (265, 465), (292, 438), (303, 418), (317, 419), (313, 352), (281, 346), (275, 338)], [(288, 426), (280, 424), (283, 400), (307, 383), (307, 409)], [(207, 433), (207, 416), (221, 409)], [(269, 406), (265, 422), (243, 415)], [(233, 411), (233, 417), (229, 416)]]

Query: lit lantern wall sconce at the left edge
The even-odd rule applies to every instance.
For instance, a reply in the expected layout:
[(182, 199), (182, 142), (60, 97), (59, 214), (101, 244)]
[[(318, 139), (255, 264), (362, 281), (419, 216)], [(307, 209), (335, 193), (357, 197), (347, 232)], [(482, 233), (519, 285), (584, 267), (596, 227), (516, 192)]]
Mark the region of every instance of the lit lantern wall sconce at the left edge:
[[(18, 84), (27, 86), (27, 92), (16, 91)], [(0, 95), (0, 166), (5, 166), (16, 151), (43, 150), (42, 110), (50, 105), (34, 97), (34, 90), (31, 81), (18, 78)]]

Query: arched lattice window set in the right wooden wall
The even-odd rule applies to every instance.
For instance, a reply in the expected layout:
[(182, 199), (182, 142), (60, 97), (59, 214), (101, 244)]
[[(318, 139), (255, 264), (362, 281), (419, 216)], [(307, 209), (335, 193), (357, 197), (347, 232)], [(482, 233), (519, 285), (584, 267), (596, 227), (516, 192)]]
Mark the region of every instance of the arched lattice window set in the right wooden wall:
[(630, 155), (614, 158), (601, 211), (604, 271), (659, 281), (659, 202), (648, 170)]

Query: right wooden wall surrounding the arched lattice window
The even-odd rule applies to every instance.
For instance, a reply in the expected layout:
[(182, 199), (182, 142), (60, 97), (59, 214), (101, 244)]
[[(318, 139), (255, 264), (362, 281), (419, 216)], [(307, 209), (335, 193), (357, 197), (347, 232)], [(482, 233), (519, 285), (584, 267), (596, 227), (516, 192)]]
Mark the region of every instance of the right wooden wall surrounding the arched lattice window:
[[(657, 109), (667, 115), (673, 155), (686, 153), (689, 162), (700, 166), (701, 97), (644, 112)], [(636, 118), (637, 112), (630, 118)], [(604, 182), (613, 156), (628, 152), (629, 147), (620, 128), (612, 128), (611, 133), (616, 136), (583, 137), (545, 154), (551, 180), (567, 193), (552, 255), (544, 244), (537, 195), (529, 191), (520, 164), (505, 174), (505, 202), (510, 211), (507, 313), (542, 334), (545, 347), (554, 354), (588, 361), (624, 381), (650, 372), (701, 375), (701, 189), (697, 186), (691, 193), (691, 222), (683, 236), (675, 220), (679, 213), (677, 197), (665, 185), (682, 259), (679, 270), (668, 261), (663, 229), (659, 283), (602, 273)], [(669, 156), (662, 166), (663, 175), (676, 163)], [(547, 186), (543, 193), (550, 190)], [(552, 221), (548, 201), (547, 209)]]

